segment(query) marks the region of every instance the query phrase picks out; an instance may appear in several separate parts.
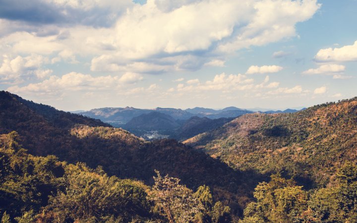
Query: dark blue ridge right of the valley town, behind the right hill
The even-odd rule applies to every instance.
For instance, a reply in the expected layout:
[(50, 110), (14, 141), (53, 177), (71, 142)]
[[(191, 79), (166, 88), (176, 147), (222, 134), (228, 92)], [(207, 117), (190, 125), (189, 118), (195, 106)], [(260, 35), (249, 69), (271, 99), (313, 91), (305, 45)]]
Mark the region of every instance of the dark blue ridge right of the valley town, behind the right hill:
[(232, 119), (234, 118), (210, 119), (207, 117), (193, 116), (188, 119), (178, 130), (176, 130), (174, 135), (171, 137), (177, 140), (188, 139), (197, 134), (221, 127)]

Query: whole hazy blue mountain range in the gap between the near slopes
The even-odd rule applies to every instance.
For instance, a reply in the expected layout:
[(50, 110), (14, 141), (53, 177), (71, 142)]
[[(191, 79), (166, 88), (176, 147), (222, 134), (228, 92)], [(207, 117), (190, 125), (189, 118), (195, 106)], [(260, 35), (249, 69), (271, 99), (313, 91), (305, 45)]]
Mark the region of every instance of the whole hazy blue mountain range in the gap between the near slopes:
[[(285, 111), (266, 111), (264, 113), (296, 111), (288, 109)], [(238, 109), (236, 107), (227, 107), (222, 110), (199, 107), (186, 110), (172, 108), (136, 109), (126, 107), (93, 109), (79, 112), (79, 114), (88, 117), (101, 119), (114, 127), (126, 129), (136, 136), (145, 139), (170, 137), (178, 140), (187, 139), (184, 136), (194, 136), (192, 133), (199, 134), (209, 131), (213, 126), (220, 127), (219, 123), (223, 125), (233, 117), (247, 113), (253, 113), (253, 111)], [(191, 120), (192, 117), (195, 117), (194, 120), (196, 121)], [(198, 121), (198, 118), (201, 118), (201, 121)], [(199, 126), (195, 126), (197, 124)], [(151, 134), (152, 132), (155, 132), (155, 134)]]

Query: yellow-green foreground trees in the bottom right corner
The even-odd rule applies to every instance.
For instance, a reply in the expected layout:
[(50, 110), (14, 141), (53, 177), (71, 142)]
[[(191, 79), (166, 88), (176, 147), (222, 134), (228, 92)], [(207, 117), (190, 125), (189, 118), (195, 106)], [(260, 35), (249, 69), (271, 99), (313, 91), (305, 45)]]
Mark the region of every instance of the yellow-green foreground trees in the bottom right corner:
[(336, 186), (317, 189), (312, 194), (292, 180), (272, 175), (254, 192), (256, 202), (244, 210), (248, 222), (353, 223), (357, 222), (357, 166), (346, 164), (338, 171)]

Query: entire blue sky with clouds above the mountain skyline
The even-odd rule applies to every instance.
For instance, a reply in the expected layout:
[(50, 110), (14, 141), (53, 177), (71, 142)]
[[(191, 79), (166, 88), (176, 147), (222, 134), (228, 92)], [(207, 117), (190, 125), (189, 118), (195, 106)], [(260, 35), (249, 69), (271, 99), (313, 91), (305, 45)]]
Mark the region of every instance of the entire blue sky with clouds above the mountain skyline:
[(0, 0), (0, 90), (64, 111), (357, 96), (357, 0)]

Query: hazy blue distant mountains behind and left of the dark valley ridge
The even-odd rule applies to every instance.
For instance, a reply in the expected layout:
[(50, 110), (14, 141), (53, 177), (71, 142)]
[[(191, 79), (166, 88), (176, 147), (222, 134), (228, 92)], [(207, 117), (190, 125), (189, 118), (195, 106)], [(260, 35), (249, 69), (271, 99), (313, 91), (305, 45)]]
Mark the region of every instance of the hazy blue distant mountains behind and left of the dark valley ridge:
[[(288, 109), (285, 111), (266, 111), (265, 113), (286, 113), (286, 112), (296, 112), (296, 111), (297, 110)], [(152, 113), (152, 112), (157, 112), (157, 113)], [(149, 113), (151, 114), (147, 115)], [(246, 113), (253, 113), (253, 111), (243, 110), (237, 107), (227, 107), (222, 110), (213, 110), (213, 109), (199, 108), (199, 107), (193, 109), (186, 109), (186, 110), (172, 109), (172, 108), (136, 109), (132, 107), (125, 107), (125, 108), (102, 108), (102, 109), (93, 109), (86, 112), (80, 112), (80, 114), (82, 115), (101, 119), (106, 123), (111, 124), (114, 127), (121, 127), (126, 130), (129, 130), (130, 132), (138, 136), (142, 136), (143, 134), (146, 134), (146, 131), (153, 130), (153, 131), (158, 131), (159, 135), (160, 134), (166, 136), (171, 135), (172, 137), (174, 137), (175, 135), (177, 136), (179, 134), (175, 132), (176, 131), (175, 129), (182, 126), (186, 120), (188, 120), (193, 116), (198, 116), (201, 118), (207, 117), (209, 119), (219, 119), (219, 118), (238, 117)], [(169, 115), (171, 118), (169, 116), (166, 117), (162, 115), (160, 116), (160, 114)], [(216, 123), (222, 123), (222, 122), (217, 121)], [(198, 131), (196, 132), (197, 134), (199, 133)], [(183, 135), (179, 136), (178, 139), (183, 139), (182, 137)]]

